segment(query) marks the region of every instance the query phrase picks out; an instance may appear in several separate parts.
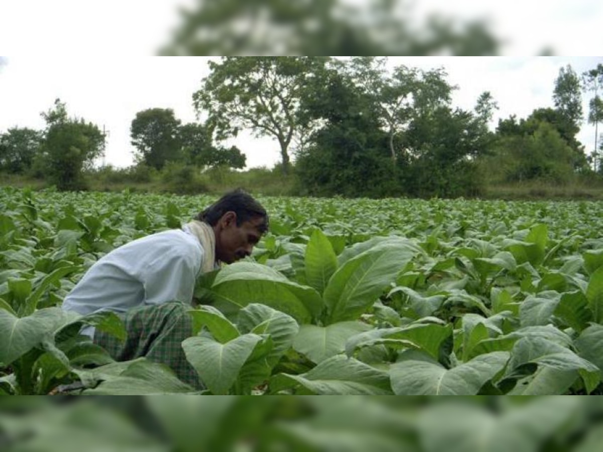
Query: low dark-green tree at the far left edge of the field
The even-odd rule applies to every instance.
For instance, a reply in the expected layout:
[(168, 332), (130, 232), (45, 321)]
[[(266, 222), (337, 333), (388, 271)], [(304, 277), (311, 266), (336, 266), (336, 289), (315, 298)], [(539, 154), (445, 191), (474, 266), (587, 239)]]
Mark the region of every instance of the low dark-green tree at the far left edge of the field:
[(42, 136), (41, 131), (27, 127), (14, 127), (0, 135), (0, 169), (19, 174), (30, 169)]

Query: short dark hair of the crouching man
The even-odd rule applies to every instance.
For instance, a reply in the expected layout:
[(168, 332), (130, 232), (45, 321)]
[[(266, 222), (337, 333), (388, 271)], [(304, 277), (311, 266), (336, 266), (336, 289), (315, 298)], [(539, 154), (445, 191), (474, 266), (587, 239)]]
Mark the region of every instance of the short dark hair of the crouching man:
[(261, 217), (264, 219), (264, 222), (259, 226), (259, 230), (261, 233), (268, 231), (268, 214), (266, 210), (249, 193), (241, 189), (226, 193), (218, 201), (199, 213), (195, 219), (204, 221), (210, 226), (215, 226), (226, 212), (236, 213), (237, 226), (241, 226), (245, 221)]

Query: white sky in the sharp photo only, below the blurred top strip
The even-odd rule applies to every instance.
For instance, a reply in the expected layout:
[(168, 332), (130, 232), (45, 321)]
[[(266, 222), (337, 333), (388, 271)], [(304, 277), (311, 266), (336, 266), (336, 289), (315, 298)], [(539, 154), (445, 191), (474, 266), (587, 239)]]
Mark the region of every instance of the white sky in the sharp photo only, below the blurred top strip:
[[(183, 123), (197, 120), (192, 93), (208, 74), (207, 57), (7, 57), (0, 67), (0, 133), (11, 127), (42, 129), (40, 113), (55, 98), (66, 102), (70, 116), (105, 128), (106, 156), (98, 163), (125, 167), (133, 163), (130, 124), (137, 111), (172, 108)], [(560, 67), (571, 64), (580, 74), (603, 63), (603, 57), (390, 57), (388, 64), (430, 69), (444, 67), (457, 85), (453, 105), (472, 109), (488, 90), (499, 104), (491, 127), (511, 114), (526, 118), (534, 108), (553, 106), (552, 91)], [(587, 96), (584, 111), (587, 110)], [(582, 127), (578, 139), (590, 153), (594, 127)], [(247, 167), (278, 162), (276, 141), (242, 134), (233, 144), (247, 155)], [(231, 144), (230, 142), (228, 143)]]

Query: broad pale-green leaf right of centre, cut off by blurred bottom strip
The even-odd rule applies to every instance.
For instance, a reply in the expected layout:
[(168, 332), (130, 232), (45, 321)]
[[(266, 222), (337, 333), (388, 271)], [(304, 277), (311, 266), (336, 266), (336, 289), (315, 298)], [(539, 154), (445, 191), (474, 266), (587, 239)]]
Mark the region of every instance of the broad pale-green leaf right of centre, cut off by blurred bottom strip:
[(496, 351), (452, 369), (435, 362), (406, 360), (391, 366), (391, 387), (396, 395), (476, 395), (508, 359), (507, 352)]

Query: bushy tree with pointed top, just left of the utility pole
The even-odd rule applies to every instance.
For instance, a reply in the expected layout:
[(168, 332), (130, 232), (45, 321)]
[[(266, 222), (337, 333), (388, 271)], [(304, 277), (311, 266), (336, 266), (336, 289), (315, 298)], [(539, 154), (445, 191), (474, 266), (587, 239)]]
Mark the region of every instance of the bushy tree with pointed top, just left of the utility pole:
[(82, 171), (92, 166), (104, 151), (105, 136), (84, 119), (69, 118), (66, 105), (56, 99), (54, 108), (42, 117), (46, 130), (42, 141), (43, 159), (49, 179), (59, 190), (84, 187)]

